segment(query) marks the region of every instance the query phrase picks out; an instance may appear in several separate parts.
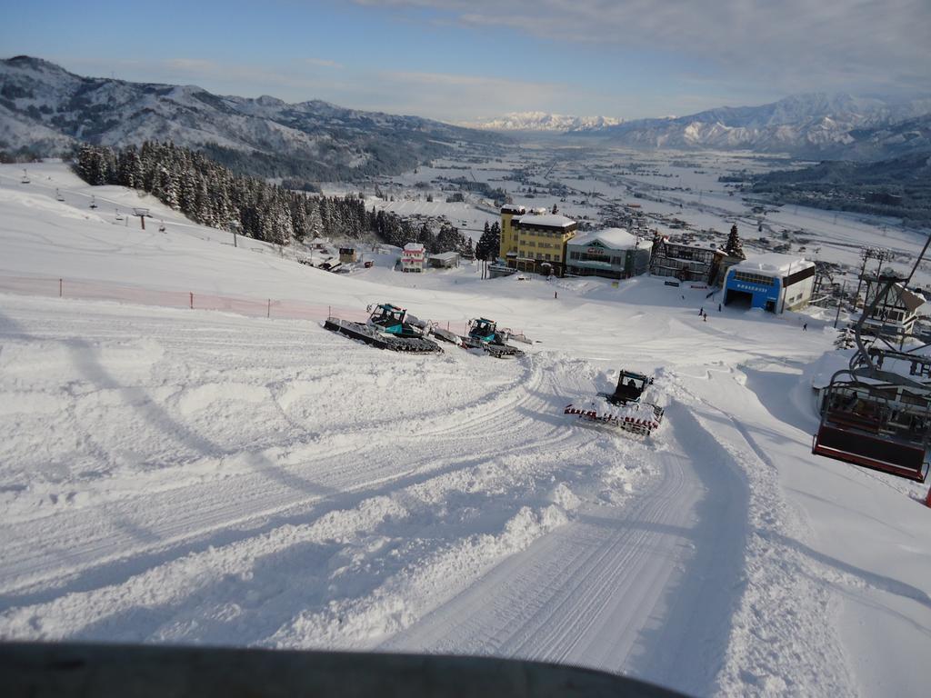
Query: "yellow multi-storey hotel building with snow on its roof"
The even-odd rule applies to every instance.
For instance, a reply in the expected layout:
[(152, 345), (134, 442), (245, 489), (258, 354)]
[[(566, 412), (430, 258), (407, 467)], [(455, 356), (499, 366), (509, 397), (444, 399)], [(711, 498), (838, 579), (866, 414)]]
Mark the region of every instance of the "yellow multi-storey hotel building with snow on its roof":
[(563, 275), (566, 243), (578, 223), (558, 213), (528, 214), (522, 206), (501, 207), (499, 256), (511, 269), (537, 274)]

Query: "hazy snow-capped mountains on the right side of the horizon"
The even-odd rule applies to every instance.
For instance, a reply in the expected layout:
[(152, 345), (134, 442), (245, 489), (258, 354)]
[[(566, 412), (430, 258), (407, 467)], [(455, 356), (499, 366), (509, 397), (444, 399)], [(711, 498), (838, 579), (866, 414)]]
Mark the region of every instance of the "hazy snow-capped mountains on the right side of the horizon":
[(638, 119), (578, 131), (638, 148), (753, 150), (817, 159), (931, 151), (931, 97), (881, 100), (803, 94), (757, 107)]

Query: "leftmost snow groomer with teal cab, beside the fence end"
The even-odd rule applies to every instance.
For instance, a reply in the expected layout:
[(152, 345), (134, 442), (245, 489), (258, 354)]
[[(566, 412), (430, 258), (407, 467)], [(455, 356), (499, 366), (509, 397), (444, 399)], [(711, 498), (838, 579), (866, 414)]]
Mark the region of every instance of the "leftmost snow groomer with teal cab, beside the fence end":
[(366, 310), (370, 315), (365, 323), (328, 317), (323, 328), (393, 352), (435, 354), (443, 351), (437, 342), (426, 338), (429, 323), (410, 315), (404, 308), (379, 303)]

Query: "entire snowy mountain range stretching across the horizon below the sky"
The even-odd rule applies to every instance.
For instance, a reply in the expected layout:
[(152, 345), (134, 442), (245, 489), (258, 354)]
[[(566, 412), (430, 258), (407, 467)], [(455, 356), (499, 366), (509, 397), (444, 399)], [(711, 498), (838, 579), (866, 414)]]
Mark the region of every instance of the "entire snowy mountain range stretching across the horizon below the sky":
[(756, 107), (621, 121), (545, 112), (464, 126), (417, 116), (289, 104), (200, 87), (81, 77), (46, 60), (0, 60), (0, 154), (68, 154), (87, 141), (171, 140), (263, 177), (354, 179), (448, 154), (456, 141), (499, 143), (502, 131), (600, 137), (637, 148), (752, 150), (818, 160), (880, 160), (931, 152), (931, 97), (803, 94)]

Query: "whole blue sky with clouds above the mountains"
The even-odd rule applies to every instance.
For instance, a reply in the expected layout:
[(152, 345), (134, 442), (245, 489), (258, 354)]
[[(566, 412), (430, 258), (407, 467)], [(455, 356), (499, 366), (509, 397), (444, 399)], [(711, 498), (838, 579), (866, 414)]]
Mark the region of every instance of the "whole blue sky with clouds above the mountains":
[(469, 121), (931, 92), (928, 0), (0, 0), (0, 55)]

